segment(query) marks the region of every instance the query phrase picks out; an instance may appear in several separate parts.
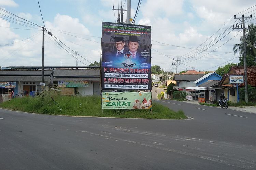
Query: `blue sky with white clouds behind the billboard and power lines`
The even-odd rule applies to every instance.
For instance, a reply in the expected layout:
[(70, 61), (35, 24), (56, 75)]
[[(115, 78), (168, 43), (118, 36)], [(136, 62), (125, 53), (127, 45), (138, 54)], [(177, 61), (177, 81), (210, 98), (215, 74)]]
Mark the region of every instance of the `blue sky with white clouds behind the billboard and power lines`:
[[(131, 18), (138, 2), (131, 0)], [(45, 32), (44, 66), (75, 66), (75, 51), (79, 66), (100, 62), (101, 22), (117, 22), (113, 6), (126, 9), (126, 0), (39, 0), (39, 4), (45, 28), (65, 44)], [(0, 7), (0, 66), (41, 66), (44, 24), (38, 1), (0, 0)], [(252, 15), (245, 20), (246, 27), (256, 23), (255, 0), (141, 0), (135, 23), (152, 26), (152, 66), (173, 72), (178, 59), (178, 72), (215, 71), (239, 62), (233, 45), (241, 42), (242, 33), (232, 26), (241, 25), (234, 15), (243, 14)]]

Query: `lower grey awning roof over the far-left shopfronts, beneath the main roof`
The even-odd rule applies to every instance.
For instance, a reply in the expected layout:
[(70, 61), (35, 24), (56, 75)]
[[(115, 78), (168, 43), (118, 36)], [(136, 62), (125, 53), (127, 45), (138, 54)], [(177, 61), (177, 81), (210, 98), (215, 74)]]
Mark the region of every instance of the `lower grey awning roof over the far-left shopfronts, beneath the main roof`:
[[(0, 76), (1, 82), (16, 82), (16, 81), (41, 81), (42, 78), (40, 76)], [(50, 77), (44, 77), (44, 81), (49, 81)]]

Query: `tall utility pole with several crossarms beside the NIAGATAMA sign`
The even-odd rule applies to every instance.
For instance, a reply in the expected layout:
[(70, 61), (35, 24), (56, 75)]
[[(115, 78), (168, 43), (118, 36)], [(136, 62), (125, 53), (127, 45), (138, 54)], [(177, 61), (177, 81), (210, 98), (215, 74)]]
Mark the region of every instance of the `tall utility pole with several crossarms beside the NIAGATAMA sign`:
[(248, 81), (247, 81), (247, 63), (246, 63), (246, 42), (245, 42), (245, 26), (244, 26), (244, 19), (248, 19), (248, 18), (252, 18), (252, 15), (250, 17), (244, 17), (244, 15), (242, 15), (242, 17), (237, 18), (236, 15), (234, 15), (234, 19), (239, 19), (241, 21), (242, 19), (242, 23), (243, 23), (243, 27), (241, 26), (241, 28), (239, 28), (239, 25), (237, 27), (234, 27), (233, 25), (233, 29), (243, 29), (243, 44), (244, 44), (244, 80), (245, 80), (245, 103), (248, 103)]

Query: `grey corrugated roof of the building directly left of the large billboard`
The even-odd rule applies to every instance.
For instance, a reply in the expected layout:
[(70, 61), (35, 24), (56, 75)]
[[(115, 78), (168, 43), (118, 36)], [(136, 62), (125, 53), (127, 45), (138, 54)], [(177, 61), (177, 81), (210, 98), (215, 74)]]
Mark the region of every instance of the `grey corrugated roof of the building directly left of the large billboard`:
[(100, 70), (68, 70), (68, 69), (57, 69), (54, 70), (53, 77), (81, 77), (81, 76), (100, 76)]

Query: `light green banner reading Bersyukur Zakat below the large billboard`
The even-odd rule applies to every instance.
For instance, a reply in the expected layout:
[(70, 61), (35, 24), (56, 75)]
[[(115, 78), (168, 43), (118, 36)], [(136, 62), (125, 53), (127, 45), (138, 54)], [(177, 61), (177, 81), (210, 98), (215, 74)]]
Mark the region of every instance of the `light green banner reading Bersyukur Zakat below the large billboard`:
[(151, 92), (102, 92), (102, 109), (151, 109)]

